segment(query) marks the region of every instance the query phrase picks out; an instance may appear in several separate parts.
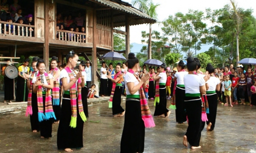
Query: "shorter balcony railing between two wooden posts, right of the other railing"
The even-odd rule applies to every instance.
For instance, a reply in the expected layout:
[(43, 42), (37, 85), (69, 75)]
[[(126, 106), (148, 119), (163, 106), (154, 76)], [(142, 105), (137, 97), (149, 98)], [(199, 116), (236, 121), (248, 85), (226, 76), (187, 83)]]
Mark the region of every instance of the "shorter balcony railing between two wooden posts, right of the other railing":
[(56, 34), (57, 40), (86, 43), (85, 41), (86, 33), (73, 32), (73, 31), (60, 30), (60, 29), (57, 29), (56, 31), (57, 31), (57, 34)]

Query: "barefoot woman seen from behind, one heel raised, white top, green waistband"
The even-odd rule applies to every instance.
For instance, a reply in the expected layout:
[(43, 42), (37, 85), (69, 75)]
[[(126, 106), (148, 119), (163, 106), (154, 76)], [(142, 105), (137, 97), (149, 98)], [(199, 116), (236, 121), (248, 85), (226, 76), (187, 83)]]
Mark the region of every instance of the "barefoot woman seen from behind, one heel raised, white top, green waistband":
[(196, 70), (196, 62), (192, 57), (187, 59), (188, 75), (184, 76), (185, 85), (185, 100), (184, 105), (187, 111), (189, 126), (187, 132), (183, 137), (183, 145), (188, 147), (188, 142), (191, 145), (191, 149), (201, 148), (199, 145), (201, 137), (201, 116), (202, 116), (202, 101), (200, 94), (206, 92), (205, 78), (194, 74)]

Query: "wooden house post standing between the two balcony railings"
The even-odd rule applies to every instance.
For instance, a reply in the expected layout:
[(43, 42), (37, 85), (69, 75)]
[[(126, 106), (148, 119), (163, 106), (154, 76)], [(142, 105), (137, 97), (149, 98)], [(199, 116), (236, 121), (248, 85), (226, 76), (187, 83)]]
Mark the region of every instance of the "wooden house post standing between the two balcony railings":
[(45, 71), (49, 72), (49, 4), (48, 0), (44, 0), (44, 48), (43, 59), (45, 62)]

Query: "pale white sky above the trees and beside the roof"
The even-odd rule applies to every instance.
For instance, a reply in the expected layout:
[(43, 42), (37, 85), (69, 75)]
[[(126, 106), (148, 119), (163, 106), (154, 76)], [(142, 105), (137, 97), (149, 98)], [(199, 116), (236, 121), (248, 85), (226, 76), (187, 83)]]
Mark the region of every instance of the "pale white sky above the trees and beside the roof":
[[(123, 0), (131, 3), (132, 0)], [(187, 13), (189, 9), (205, 11), (206, 8), (212, 10), (223, 8), (225, 4), (230, 4), (230, 0), (153, 0), (156, 4), (160, 4), (157, 9), (158, 22), (162, 22), (177, 12)], [(253, 15), (256, 17), (256, 0), (236, 0), (237, 6), (244, 9), (253, 9)], [(121, 28), (125, 30), (124, 27)], [(149, 25), (130, 26), (130, 43), (142, 44), (141, 31), (149, 32)], [(161, 31), (161, 25), (156, 23), (152, 26), (152, 30)]]

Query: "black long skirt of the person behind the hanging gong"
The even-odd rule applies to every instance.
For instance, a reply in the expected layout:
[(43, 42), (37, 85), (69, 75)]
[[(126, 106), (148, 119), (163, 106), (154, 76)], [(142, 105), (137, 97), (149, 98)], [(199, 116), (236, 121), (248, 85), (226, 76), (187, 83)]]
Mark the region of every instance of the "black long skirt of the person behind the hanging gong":
[(13, 79), (4, 76), (4, 100), (11, 101), (14, 100), (14, 93), (13, 93)]

